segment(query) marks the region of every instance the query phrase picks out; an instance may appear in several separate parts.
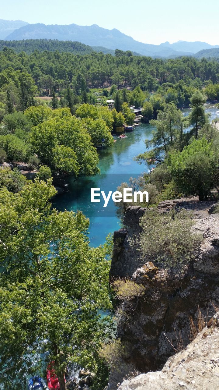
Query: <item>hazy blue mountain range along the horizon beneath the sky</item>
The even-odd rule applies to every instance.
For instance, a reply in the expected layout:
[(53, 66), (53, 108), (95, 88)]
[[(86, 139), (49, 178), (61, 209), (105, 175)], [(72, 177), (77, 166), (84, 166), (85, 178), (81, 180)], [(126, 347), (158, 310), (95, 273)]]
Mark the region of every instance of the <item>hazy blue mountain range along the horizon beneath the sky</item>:
[[(169, 42), (161, 43), (160, 45), (147, 44), (134, 40), (116, 28), (108, 30), (96, 24), (91, 26), (79, 26), (74, 23), (71, 25), (45, 25), (43, 23), (28, 24), (24, 21), (6, 20), (0, 20), (0, 39), (7, 41), (23, 39), (78, 41), (92, 46), (94, 50), (95, 46), (99, 50), (101, 48), (101, 51), (104, 51), (105, 48), (108, 50), (131, 50), (141, 55), (168, 58), (180, 55), (194, 55), (199, 51), (219, 48), (219, 45), (212, 46), (205, 42), (178, 41), (172, 44)], [(99, 51), (98, 49), (96, 50)], [(217, 52), (217, 50), (214, 52)]]

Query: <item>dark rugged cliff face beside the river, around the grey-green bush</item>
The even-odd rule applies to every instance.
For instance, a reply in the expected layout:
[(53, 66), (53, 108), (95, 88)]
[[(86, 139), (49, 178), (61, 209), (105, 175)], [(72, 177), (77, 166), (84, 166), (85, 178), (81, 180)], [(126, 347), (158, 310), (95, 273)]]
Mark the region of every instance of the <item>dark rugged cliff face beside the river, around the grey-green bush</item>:
[(132, 307), (130, 302), (123, 304), (117, 331), (127, 351), (111, 369), (108, 390), (116, 389), (129, 371), (162, 369), (174, 348), (189, 343), (189, 316), (196, 321), (198, 308), (206, 318), (215, 313), (212, 304), (219, 300), (219, 214), (211, 214), (214, 202), (199, 202), (194, 197), (161, 202), (158, 208), (166, 213), (173, 207), (193, 210), (192, 230), (203, 235), (194, 261), (180, 272), (157, 268), (138, 247), (130, 246), (129, 239), (140, 233), (139, 220), (147, 209), (129, 207), (125, 228), (114, 233), (110, 278), (129, 277), (144, 285), (145, 294)]

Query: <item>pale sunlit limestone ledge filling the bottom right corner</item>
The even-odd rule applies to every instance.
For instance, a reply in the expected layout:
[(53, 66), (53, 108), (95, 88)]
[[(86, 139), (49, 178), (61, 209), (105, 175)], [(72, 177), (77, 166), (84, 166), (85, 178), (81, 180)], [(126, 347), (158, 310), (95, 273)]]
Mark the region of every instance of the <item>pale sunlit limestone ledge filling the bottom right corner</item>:
[[(219, 314), (219, 313), (217, 313)], [(206, 328), (183, 351), (171, 356), (162, 371), (125, 380), (119, 390), (214, 390), (219, 380), (218, 328)]]

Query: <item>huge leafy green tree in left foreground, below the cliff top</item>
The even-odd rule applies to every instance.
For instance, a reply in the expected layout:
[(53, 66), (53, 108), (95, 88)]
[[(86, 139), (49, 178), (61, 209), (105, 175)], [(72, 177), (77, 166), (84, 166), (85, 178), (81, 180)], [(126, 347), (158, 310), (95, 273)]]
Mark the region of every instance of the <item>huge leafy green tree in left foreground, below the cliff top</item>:
[(28, 182), (16, 194), (0, 190), (0, 382), (5, 390), (14, 381), (25, 388), (26, 377), (38, 370), (44, 376), (44, 360), (55, 360), (59, 378), (73, 362), (96, 374), (98, 350), (110, 339), (110, 319), (98, 314), (111, 308), (104, 249), (88, 245), (85, 216), (51, 209), (54, 195), (51, 180)]

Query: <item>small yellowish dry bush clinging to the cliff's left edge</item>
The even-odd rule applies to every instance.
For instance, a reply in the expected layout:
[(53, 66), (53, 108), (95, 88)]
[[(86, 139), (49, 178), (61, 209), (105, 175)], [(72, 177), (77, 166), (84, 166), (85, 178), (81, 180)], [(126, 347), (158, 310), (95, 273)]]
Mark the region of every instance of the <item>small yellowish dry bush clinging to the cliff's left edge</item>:
[(145, 287), (142, 284), (133, 282), (130, 279), (118, 279), (113, 283), (113, 289), (117, 294), (117, 298), (124, 300), (132, 300), (140, 297), (145, 293)]

